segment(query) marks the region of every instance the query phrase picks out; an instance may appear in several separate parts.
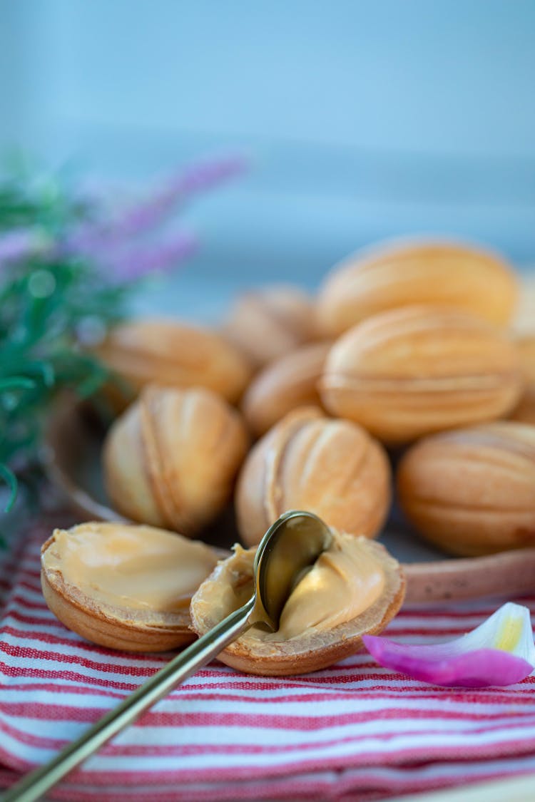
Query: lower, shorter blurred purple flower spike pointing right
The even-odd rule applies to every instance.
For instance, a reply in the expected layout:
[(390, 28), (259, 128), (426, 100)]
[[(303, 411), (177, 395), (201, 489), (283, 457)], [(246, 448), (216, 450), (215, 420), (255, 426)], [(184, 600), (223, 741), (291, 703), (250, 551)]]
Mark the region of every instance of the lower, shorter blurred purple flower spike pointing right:
[(197, 238), (188, 232), (177, 233), (167, 241), (152, 245), (137, 245), (120, 251), (102, 254), (101, 264), (113, 273), (114, 281), (132, 282), (148, 273), (167, 271), (197, 249)]

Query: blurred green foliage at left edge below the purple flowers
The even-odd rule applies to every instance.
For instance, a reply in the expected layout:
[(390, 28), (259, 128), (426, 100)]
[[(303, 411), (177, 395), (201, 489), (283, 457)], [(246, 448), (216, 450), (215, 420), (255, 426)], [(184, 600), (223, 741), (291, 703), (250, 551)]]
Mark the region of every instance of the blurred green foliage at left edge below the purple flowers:
[(87, 397), (107, 379), (83, 342), (124, 317), (130, 289), (104, 283), (75, 257), (29, 257), (6, 269), (0, 286), (0, 476), (10, 487), (7, 508), (56, 391)]

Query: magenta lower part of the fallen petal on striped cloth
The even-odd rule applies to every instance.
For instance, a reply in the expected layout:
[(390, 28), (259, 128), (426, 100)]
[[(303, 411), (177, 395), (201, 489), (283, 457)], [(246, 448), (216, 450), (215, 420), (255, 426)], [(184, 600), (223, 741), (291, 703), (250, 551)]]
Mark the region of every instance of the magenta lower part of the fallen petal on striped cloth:
[(458, 641), (433, 646), (411, 646), (388, 638), (364, 635), (364, 645), (379, 665), (424, 683), (446, 687), (480, 688), (520, 683), (533, 671), (526, 660), (500, 649), (460, 652)]

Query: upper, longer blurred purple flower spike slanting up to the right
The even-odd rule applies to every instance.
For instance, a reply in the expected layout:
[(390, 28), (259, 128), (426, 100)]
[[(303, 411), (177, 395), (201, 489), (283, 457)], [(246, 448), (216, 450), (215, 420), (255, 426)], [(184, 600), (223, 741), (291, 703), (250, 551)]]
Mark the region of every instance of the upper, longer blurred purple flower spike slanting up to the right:
[(94, 255), (111, 245), (127, 241), (153, 229), (179, 203), (197, 192), (211, 189), (222, 181), (237, 176), (246, 166), (241, 156), (229, 156), (185, 168), (145, 201), (125, 209), (108, 221), (96, 221), (80, 226), (67, 241), (67, 249), (75, 253)]

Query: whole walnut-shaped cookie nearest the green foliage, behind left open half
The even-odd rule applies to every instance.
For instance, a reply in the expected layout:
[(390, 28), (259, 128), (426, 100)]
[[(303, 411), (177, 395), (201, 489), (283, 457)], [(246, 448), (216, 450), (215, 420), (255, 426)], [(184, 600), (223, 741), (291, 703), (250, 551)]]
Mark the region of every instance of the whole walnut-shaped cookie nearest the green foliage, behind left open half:
[(240, 414), (203, 387), (145, 387), (108, 432), (107, 493), (131, 520), (199, 532), (229, 501), (248, 448)]

